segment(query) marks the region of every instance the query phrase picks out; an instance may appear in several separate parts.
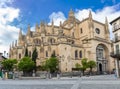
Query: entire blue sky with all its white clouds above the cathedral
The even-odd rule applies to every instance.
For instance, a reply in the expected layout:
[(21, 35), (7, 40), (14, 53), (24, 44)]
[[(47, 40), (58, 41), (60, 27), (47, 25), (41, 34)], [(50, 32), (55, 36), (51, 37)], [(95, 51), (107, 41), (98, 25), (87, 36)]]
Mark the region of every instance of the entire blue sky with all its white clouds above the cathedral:
[(40, 21), (50, 24), (53, 20), (59, 25), (67, 19), (70, 9), (79, 20), (88, 17), (91, 10), (93, 19), (104, 23), (107, 16), (110, 22), (120, 16), (120, 0), (0, 0), (0, 52), (8, 52), (20, 28), (25, 34), (28, 24), (31, 30)]

